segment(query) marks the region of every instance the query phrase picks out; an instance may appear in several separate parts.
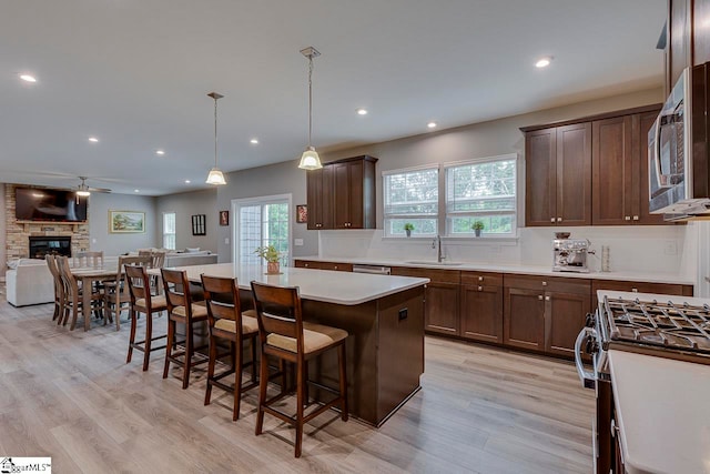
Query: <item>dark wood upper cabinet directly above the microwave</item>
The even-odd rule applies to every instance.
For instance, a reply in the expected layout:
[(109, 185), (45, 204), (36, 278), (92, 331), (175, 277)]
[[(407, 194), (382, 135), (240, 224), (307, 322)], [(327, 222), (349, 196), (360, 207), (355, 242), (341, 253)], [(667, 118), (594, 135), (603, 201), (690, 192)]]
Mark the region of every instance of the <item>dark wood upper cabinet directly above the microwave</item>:
[(710, 61), (710, 0), (668, 0), (666, 92), (683, 69)]

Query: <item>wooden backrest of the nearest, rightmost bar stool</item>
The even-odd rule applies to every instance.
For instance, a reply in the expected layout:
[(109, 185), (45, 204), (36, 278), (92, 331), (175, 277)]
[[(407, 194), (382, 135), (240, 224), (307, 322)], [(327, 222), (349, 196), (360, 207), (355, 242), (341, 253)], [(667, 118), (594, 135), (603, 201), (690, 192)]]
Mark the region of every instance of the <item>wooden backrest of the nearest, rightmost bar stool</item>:
[(303, 313), (298, 286), (274, 286), (253, 281), (252, 295), (262, 344), (266, 343), (268, 334), (293, 337), (298, 353), (303, 354)]

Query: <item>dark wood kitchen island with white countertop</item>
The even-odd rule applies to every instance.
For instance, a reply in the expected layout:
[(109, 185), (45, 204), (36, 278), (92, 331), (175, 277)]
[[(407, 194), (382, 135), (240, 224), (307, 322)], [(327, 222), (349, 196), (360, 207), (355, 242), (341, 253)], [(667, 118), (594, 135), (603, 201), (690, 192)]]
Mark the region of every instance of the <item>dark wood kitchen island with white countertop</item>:
[[(428, 279), (219, 263), (179, 266), (190, 281), (200, 275), (236, 278), (251, 300), (251, 281), (298, 286), (304, 319), (344, 329), (351, 415), (382, 425), (419, 390), (424, 373), (424, 288)], [(158, 270), (149, 273), (158, 274)], [(243, 299), (244, 300), (244, 299)], [(311, 380), (337, 386), (337, 357), (324, 354), (310, 366)], [(318, 392), (311, 392), (316, 399)]]

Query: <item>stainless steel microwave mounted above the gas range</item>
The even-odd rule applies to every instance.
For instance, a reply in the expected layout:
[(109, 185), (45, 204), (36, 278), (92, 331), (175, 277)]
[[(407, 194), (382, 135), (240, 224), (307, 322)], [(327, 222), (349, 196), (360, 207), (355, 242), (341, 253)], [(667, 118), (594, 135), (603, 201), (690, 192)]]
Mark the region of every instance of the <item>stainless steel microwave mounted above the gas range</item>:
[(668, 220), (710, 214), (709, 71), (682, 72), (648, 134), (649, 210)]

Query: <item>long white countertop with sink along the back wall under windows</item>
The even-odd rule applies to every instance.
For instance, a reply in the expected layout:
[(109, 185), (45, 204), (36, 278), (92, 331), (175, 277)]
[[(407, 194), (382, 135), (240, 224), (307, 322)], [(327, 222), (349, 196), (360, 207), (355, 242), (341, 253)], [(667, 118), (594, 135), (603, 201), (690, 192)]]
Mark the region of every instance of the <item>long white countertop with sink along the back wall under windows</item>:
[[(460, 264), (439, 264), (436, 261), (430, 263), (410, 263), (406, 260), (390, 259), (373, 259), (373, 258), (347, 258), (347, 256), (295, 256), (294, 260), (312, 260), (316, 262), (343, 262), (362, 265), (384, 265), (384, 266), (413, 266), (425, 269), (443, 269), (443, 270), (466, 270), (479, 272), (501, 272), (501, 273), (523, 273), (529, 275), (544, 276), (565, 276), (572, 279), (595, 279), (595, 280), (623, 280), (639, 281), (649, 283), (674, 283), (674, 284), (694, 284), (694, 281), (683, 278), (677, 273), (643, 273), (643, 272), (554, 272), (551, 265), (523, 265), (523, 264), (496, 264), (496, 263), (476, 263), (460, 262)], [(424, 262), (427, 259), (412, 259), (414, 262)]]

